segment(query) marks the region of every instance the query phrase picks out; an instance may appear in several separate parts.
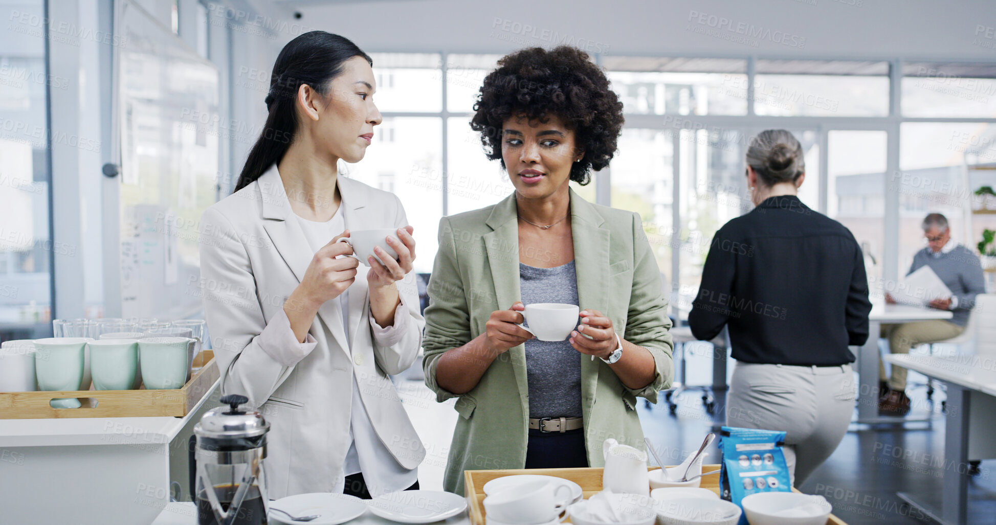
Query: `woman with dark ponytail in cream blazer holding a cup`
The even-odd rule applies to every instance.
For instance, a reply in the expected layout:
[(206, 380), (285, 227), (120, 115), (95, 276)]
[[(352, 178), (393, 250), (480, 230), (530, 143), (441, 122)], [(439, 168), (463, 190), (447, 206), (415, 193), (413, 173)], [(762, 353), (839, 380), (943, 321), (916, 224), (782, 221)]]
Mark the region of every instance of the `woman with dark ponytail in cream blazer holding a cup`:
[[(412, 228), (395, 195), (337, 170), (364, 157), (380, 124), (372, 66), (339, 35), (288, 43), (236, 191), (201, 218), (201, 292), (221, 390), (247, 396), (271, 423), (274, 498), (418, 487), (425, 450), (388, 378), (421, 344)], [(337, 242), (351, 228), (394, 231), (376, 258), (359, 261)]]

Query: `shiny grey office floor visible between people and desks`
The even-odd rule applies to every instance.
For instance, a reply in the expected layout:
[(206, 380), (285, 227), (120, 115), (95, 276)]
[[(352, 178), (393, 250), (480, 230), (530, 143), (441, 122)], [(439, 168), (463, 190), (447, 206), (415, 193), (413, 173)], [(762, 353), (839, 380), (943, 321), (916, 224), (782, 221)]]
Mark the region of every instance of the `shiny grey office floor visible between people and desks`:
[[(689, 352), (688, 383), (710, 382), (711, 358), (706, 352)], [(730, 363), (732, 370), (733, 363)], [(910, 382), (920, 381), (910, 374)], [(402, 381), (398, 390), (408, 413), (426, 446), (426, 458), (419, 467), (423, 488), (440, 489), (456, 412), (449, 402), (437, 403), (435, 396), (420, 381)], [(925, 392), (911, 393), (914, 405), (925, 413)], [(943, 394), (935, 394), (943, 398)], [(654, 443), (664, 462), (678, 463), (698, 449), (705, 434), (721, 423), (723, 398), (717, 398), (718, 418), (709, 416), (697, 394), (678, 398), (674, 415), (660, 404), (640, 403), (643, 431)], [(957, 468), (943, 462), (944, 419), (935, 413), (932, 428), (925, 424), (907, 424), (906, 429), (879, 427), (851, 431), (834, 455), (818, 469), (800, 489), (823, 494), (834, 505), (834, 512), (850, 525), (928, 523), (929, 519), (910, 509), (896, 492), (905, 491), (926, 499), (940, 500), (943, 468)], [(707, 462), (718, 460), (715, 444), (707, 449)], [(898, 457), (896, 457), (898, 455)], [(983, 461), (981, 474), (969, 480), (970, 514), (968, 523), (996, 523), (996, 461)]]

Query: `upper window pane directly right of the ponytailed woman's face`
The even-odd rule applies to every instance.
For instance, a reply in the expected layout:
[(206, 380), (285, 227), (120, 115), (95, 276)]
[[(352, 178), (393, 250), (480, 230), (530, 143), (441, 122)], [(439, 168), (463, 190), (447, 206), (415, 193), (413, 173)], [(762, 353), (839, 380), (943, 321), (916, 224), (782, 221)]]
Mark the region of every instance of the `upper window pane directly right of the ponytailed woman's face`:
[(433, 53), (371, 53), (381, 112), (442, 111), (441, 60)]

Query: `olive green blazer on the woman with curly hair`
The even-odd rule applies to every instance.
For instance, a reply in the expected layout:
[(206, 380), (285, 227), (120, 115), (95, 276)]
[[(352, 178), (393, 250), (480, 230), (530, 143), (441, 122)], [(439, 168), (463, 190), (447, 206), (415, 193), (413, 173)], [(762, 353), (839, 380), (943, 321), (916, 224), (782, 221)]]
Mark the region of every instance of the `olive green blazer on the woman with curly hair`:
[[(643, 449), (636, 396), (656, 402), (670, 386), (671, 327), (660, 271), (639, 215), (592, 204), (571, 191), (578, 300), (582, 310), (600, 310), (616, 332), (647, 349), (656, 376), (632, 390), (609, 365), (578, 354), (581, 360), (585, 443), (592, 466), (602, 466), (602, 443), (609, 437)], [(439, 357), (485, 332), (491, 312), (521, 300), (519, 230), (515, 194), (485, 208), (443, 217), (439, 250), (428, 284), (425, 309), (425, 384), (443, 401), (458, 397), (459, 412), (449, 449), (443, 488), (463, 492), (463, 471), (523, 468), (528, 442), (529, 389), (523, 345), (496, 359), (473, 390), (463, 395), (436, 385)], [(602, 402), (597, 402), (602, 401)]]

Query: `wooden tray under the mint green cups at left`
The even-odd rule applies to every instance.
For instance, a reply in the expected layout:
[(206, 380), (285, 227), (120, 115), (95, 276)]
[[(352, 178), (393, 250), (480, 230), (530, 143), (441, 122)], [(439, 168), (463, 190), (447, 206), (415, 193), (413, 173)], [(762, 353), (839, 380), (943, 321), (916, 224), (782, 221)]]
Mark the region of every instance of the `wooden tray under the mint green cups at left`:
[[(169, 391), (0, 392), (0, 419), (52, 417), (145, 417), (186, 415), (219, 378), (214, 352), (201, 351), (193, 360), (200, 367), (182, 388)], [(49, 401), (78, 397), (79, 408), (53, 408)]]

